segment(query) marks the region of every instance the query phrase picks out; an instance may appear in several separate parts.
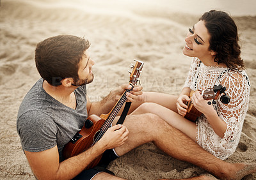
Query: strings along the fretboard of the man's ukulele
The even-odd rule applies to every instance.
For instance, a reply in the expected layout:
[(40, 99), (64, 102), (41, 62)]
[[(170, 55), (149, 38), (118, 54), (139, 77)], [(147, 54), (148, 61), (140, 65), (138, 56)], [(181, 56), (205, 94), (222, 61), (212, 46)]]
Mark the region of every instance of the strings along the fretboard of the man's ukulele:
[(110, 124), (112, 123), (113, 119), (116, 117), (116, 115), (118, 114), (119, 110), (121, 109), (122, 105), (124, 104), (125, 100), (127, 100), (126, 98), (126, 92), (130, 92), (133, 89), (133, 84), (136, 82), (136, 80), (138, 79), (138, 74), (140, 73), (140, 71), (137, 71), (136, 73), (136, 79), (132, 80), (131, 85), (132, 88), (131, 89), (126, 89), (125, 93), (123, 94), (123, 96), (120, 98), (120, 100), (118, 101), (118, 105), (115, 107), (115, 110), (113, 110), (113, 112), (111, 112), (110, 116), (108, 117), (108, 119), (111, 119), (111, 121), (106, 121), (104, 122), (104, 124), (102, 125), (102, 130), (100, 130), (99, 135), (97, 136), (97, 138), (95, 139), (95, 141), (93, 142), (92, 146), (104, 135), (104, 133), (108, 130)]

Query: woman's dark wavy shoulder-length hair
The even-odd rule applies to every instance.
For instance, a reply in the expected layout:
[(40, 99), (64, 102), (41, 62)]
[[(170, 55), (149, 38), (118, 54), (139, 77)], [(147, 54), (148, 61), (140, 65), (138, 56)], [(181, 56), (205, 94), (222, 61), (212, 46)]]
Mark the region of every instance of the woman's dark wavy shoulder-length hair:
[(233, 70), (244, 69), (234, 20), (227, 13), (217, 10), (204, 13), (199, 20), (205, 22), (205, 27), (211, 36), (209, 49), (216, 52), (214, 61), (225, 63), (228, 68)]

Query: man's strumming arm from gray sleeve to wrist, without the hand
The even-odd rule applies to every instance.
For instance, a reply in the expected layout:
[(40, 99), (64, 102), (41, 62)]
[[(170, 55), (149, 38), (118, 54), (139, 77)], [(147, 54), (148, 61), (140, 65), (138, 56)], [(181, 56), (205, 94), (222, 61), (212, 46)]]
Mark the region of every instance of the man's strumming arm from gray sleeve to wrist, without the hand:
[(37, 179), (72, 179), (103, 153), (103, 150), (95, 144), (84, 153), (61, 163), (59, 163), (57, 146), (38, 153), (29, 151), (25, 151), (25, 153)]

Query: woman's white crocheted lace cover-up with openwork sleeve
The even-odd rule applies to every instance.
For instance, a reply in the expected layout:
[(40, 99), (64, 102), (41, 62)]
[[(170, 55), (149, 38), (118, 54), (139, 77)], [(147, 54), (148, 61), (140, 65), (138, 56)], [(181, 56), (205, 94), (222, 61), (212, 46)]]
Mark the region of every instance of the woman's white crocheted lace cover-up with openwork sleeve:
[(221, 84), (230, 96), (230, 103), (221, 103), (220, 96), (214, 108), (218, 116), (227, 124), (223, 139), (219, 137), (202, 114), (198, 117), (197, 142), (206, 151), (221, 160), (230, 156), (239, 143), (244, 117), (248, 110), (250, 82), (245, 71), (232, 71), (228, 68), (205, 66), (200, 59), (194, 57), (184, 87), (196, 89), (212, 88)]

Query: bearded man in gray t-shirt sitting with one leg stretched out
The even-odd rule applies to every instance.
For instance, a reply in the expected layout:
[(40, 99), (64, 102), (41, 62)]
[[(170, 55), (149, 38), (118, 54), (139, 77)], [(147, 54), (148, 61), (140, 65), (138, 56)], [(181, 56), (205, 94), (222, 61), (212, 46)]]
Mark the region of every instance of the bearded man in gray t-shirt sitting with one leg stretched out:
[[(17, 117), (22, 149), (36, 178), (121, 179), (98, 168), (84, 169), (104, 152), (100, 165), (106, 167), (109, 161), (147, 142), (154, 142), (170, 156), (198, 165), (221, 179), (241, 179), (256, 171), (253, 165), (215, 158), (158, 116), (138, 114), (136, 109), (123, 125), (115, 125), (115, 119), (94, 146), (64, 160), (63, 147), (81, 130), (84, 120), (91, 114), (108, 114), (124, 90), (131, 88), (118, 87), (102, 101), (90, 102), (86, 84), (93, 80), (95, 63), (88, 54), (89, 47), (87, 40), (68, 35), (47, 38), (36, 46), (36, 68), (42, 79), (26, 94)], [(134, 87), (127, 99), (141, 98), (141, 90), (141, 86)]]

